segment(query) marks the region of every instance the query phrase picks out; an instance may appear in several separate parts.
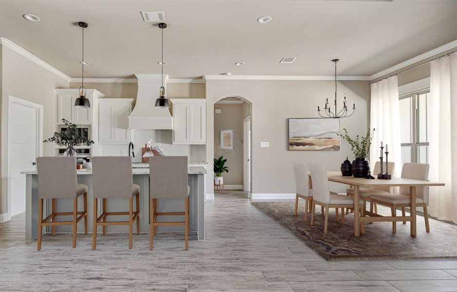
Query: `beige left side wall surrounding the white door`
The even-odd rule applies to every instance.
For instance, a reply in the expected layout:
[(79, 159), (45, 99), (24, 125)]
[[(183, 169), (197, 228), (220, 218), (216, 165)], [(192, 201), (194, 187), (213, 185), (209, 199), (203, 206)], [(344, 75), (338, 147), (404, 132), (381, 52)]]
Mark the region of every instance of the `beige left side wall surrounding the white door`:
[[(7, 211), (7, 121), (8, 95), (25, 99), (43, 106), (44, 138), (52, 136), (56, 129), (57, 98), (55, 88), (69, 88), (68, 81), (37, 65), (13, 50), (1, 47), (1, 200), (0, 213)], [(44, 156), (54, 156), (55, 146), (45, 143)]]

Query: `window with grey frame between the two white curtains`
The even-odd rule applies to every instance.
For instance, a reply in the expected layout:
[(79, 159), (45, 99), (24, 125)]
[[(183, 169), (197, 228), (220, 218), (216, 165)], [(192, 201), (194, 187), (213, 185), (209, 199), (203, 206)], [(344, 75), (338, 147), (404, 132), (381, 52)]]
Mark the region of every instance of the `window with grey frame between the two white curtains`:
[(428, 163), (427, 99), (430, 89), (400, 96), (401, 164)]

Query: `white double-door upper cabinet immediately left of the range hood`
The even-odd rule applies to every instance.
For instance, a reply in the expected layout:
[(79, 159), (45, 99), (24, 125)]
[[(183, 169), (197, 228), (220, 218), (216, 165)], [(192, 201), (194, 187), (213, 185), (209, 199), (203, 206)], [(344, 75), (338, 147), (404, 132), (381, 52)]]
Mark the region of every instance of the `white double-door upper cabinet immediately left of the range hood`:
[(129, 115), (133, 98), (104, 98), (98, 106), (100, 144), (129, 144)]

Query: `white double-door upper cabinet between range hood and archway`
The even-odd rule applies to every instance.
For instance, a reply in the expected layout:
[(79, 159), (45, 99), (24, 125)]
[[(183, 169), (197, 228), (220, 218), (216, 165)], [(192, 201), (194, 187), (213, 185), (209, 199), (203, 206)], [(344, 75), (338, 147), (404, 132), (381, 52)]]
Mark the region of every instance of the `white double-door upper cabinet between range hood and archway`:
[(206, 100), (172, 98), (173, 144), (206, 144)]

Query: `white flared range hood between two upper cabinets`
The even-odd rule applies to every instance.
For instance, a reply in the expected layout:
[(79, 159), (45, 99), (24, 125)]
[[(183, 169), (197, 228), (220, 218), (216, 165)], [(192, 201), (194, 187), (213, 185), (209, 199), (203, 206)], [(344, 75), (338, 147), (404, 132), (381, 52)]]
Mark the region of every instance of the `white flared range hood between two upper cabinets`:
[[(169, 109), (156, 109), (155, 100), (162, 86), (161, 74), (135, 74), (138, 79), (136, 104), (129, 116), (129, 129), (171, 130), (173, 118)], [(168, 75), (164, 75), (163, 85), (167, 92)]]

